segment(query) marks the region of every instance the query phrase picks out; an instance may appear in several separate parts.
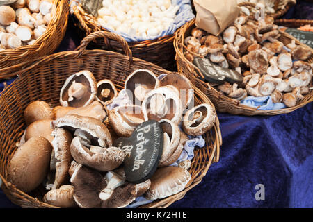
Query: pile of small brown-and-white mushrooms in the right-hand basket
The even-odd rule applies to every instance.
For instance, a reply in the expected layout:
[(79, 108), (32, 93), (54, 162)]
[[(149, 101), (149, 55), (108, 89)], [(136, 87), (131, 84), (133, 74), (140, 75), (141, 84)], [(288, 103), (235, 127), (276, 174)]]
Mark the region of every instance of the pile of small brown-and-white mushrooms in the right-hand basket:
[(266, 16), (258, 3), (255, 15), (241, 7), (239, 17), (219, 36), (193, 28), (184, 40), (184, 56), (193, 62), (201, 56), (220, 67), (234, 69), (243, 76), (242, 83), (214, 87), (226, 96), (243, 100), (246, 96), (271, 96), (273, 103), (293, 107), (310, 92), (313, 65), (305, 62), (312, 51), (291, 42), (284, 45), (273, 17)]

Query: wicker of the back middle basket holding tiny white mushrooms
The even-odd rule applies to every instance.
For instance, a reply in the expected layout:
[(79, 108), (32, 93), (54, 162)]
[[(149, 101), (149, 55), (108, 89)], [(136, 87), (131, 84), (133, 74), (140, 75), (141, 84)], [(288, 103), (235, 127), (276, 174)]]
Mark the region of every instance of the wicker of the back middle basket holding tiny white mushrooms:
[[(81, 8), (81, 6), (73, 6), (74, 22), (83, 30), (86, 35), (93, 31), (107, 31), (105, 28), (98, 26), (92, 21), (95, 17), (91, 17)], [(89, 19), (86, 19), (88, 17)], [(152, 62), (163, 69), (176, 71), (175, 49), (173, 44), (175, 34), (165, 35), (155, 40), (145, 40), (141, 42), (129, 42), (129, 47), (136, 58), (141, 58), (148, 62)], [(115, 40), (97, 40), (95, 49), (105, 49), (122, 53), (122, 47)]]

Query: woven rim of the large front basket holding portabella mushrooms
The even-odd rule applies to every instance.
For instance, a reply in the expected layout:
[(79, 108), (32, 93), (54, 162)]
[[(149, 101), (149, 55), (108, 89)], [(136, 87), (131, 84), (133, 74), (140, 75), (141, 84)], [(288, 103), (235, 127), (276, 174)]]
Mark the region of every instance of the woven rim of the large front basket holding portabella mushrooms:
[[(95, 33), (93, 33), (94, 35)], [(29, 72), (32, 69), (35, 69), (35, 67), (40, 67), (40, 65), (45, 65), (49, 62), (53, 62), (53, 60), (58, 60), (58, 59), (65, 59), (69, 57), (69, 56), (80, 56), (80, 55), (93, 55), (93, 56), (106, 56), (106, 55), (111, 55), (114, 56), (114, 58), (122, 58), (123, 60), (129, 60), (128, 56), (122, 55), (120, 53), (116, 53), (113, 51), (104, 51), (101, 49), (94, 49), (94, 50), (85, 50), (85, 49), (80, 49), (79, 51), (62, 51), (59, 53), (54, 53), (51, 54), (49, 56), (43, 56), (40, 59), (37, 60), (33, 60), (33, 64), (29, 67), (26, 67), (25, 69), (23, 69), (22, 71), (20, 71), (20, 74), (22, 74), (21, 77), (18, 77), (11, 85), (10, 87), (6, 87), (6, 89), (3, 90), (3, 94), (0, 95), (0, 101), (3, 101), (3, 98), (7, 95), (10, 94), (10, 92), (13, 90), (13, 88), (15, 87), (15, 85), (18, 85), (19, 81), (24, 80), (25, 78), (28, 78), (29, 75), (31, 75), (31, 72)], [(72, 57), (71, 57), (72, 58)], [(141, 62), (145, 65), (149, 65), (151, 67), (154, 67), (155, 69), (159, 69), (160, 73), (161, 71), (163, 73), (170, 73), (171, 71), (167, 71), (166, 69), (163, 69), (157, 65), (154, 65), (150, 62), (146, 62), (144, 60), (141, 60), (139, 58), (133, 58), (132, 60), (135, 64), (136, 62)], [(50, 63), (49, 63), (50, 64)], [(52, 63), (53, 64), (53, 63)], [(24, 74), (26, 73), (26, 74)], [(193, 86), (194, 87), (194, 86)], [(213, 107), (214, 104), (211, 103), (211, 101), (207, 98), (207, 96), (205, 96), (200, 89), (197, 89), (196, 87), (194, 87), (195, 89), (195, 94), (197, 96), (201, 96), (200, 99), (202, 101), (204, 101), (205, 103), (210, 103)], [(218, 117), (216, 117), (216, 123), (214, 124), (214, 127), (211, 130), (215, 130), (214, 131), (214, 143), (213, 144), (207, 144), (207, 146), (212, 146), (212, 150), (210, 151), (210, 155), (209, 155), (209, 162), (207, 163), (207, 165), (205, 166), (204, 169), (200, 169), (198, 170), (197, 173), (195, 173), (195, 175), (192, 175), (192, 180), (190, 182), (188, 182), (188, 185), (186, 186), (186, 189), (184, 189), (184, 191), (179, 192), (178, 194), (175, 194), (173, 196), (169, 196), (168, 198), (164, 198), (161, 200), (154, 200), (154, 202), (152, 202), (151, 204), (148, 204), (147, 207), (168, 207), (168, 205), (174, 203), (176, 200), (179, 200), (180, 198), (183, 198), (184, 195), (186, 194), (186, 192), (193, 188), (195, 185), (197, 185), (199, 182), (201, 182), (202, 178), (207, 174), (207, 171), (209, 170), (209, 167), (211, 166), (212, 163), (214, 162), (218, 162), (219, 160), (219, 148), (220, 145), (222, 144), (222, 137), (221, 137), (221, 133), (220, 133), (220, 127), (219, 127), (219, 121), (218, 121)], [(210, 130), (210, 131), (211, 131)], [(206, 137), (207, 138), (207, 137)], [(194, 157), (195, 158), (195, 157)], [(193, 159), (195, 160), (195, 159)], [(29, 195), (25, 194), (23, 191), (20, 191), (19, 189), (16, 189), (14, 187), (14, 185), (11, 185), (6, 179), (5, 176), (1, 175), (0, 173), (0, 177), (1, 179), (3, 179), (3, 187), (5, 187), (6, 192), (9, 192), (10, 194), (7, 195), (10, 198), (10, 195), (15, 195), (18, 196), (18, 198), (24, 198), (24, 201), (29, 201), (33, 204), (35, 204), (38, 207), (55, 207), (53, 205), (49, 205), (47, 203), (42, 203), (40, 202), (40, 200), (33, 198), (33, 197), (29, 197)], [(5, 192), (5, 193), (6, 193)], [(14, 199), (13, 199), (14, 200)], [(145, 207), (145, 205), (144, 205)]]

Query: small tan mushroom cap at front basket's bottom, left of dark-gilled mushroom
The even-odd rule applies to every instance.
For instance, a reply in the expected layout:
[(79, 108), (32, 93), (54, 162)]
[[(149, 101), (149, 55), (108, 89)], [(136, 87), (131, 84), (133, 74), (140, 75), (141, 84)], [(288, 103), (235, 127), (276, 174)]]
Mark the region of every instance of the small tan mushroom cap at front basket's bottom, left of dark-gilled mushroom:
[(45, 194), (43, 201), (56, 207), (77, 207), (74, 200), (74, 186), (62, 185), (58, 189), (52, 189)]

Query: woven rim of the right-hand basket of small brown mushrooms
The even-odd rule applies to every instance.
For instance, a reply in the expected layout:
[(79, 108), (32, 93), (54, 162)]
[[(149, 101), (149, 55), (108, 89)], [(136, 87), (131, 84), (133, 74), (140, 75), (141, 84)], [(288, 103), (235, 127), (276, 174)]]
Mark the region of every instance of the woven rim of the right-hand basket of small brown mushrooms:
[[(188, 67), (188, 69), (191, 71), (191, 68), (190, 67), (195, 67), (195, 65), (193, 65), (191, 62), (189, 62), (185, 56), (184, 56), (184, 53), (183, 53), (183, 50), (182, 50), (182, 42), (184, 40), (184, 35), (186, 33), (187, 30), (191, 29), (193, 26), (195, 26), (195, 19), (191, 20), (190, 22), (184, 24), (184, 26), (182, 26), (181, 28), (179, 28), (179, 32), (177, 32), (177, 34), (175, 35), (175, 40), (174, 40), (174, 47), (175, 47), (175, 51), (176, 51), (176, 57), (175, 57), (175, 60), (177, 61), (177, 68), (180, 69), (181, 65), (179, 64), (178, 60), (181, 60), (184, 65), (186, 67)], [(288, 33), (285, 33), (284, 31), (280, 31), (280, 33), (282, 33), (282, 35), (288, 37), (289, 39), (291, 40), (295, 40), (296, 41), (296, 44), (300, 44), (302, 46), (305, 46), (306, 48), (310, 49), (308, 46), (302, 44), (299, 40), (296, 40), (296, 38), (294, 38), (292, 35), (289, 35)], [(313, 55), (313, 49), (310, 49), (312, 51), (312, 55)], [(201, 73), (200, 70), (197, 69), (198, 72)], [(183, 71), (181, 71), (183, 73)], [(184, 73), (183, 73), (184, 74)], [(196, 77), (191, 77), (191, 76), (188, 76), (188, 74), (185, 74), (188, 78), (196, 78)], [(207, 83), (204, 83), (202, 80), (200, 80), (199, 78), (197, 78), (197, 81), (199, 84), (202, 85), (202, 87), (207, 87), (208, 90), (214, 94), (214, 96), (216, 96), (216, 98), (218, 98), (218, 102), (215, 102), (215, 105), (216, 103), (221, 103), (222, 101), (225, 101), (227, 103), (227, 105), (230, 107), (230, 108), (234, 108), (234, 109), (237, 109), (238, 110), (241, 110), (241, 113), (240, 114), (243, 114), (243, 115), (275, 115), (275, 114), (285, 114), (285, 113), (289, 113), (289, 112), (292, 112), (294, 110), (297, 110), (298, 108), (301, 108), (303, 107), (304, 105), (306, 105), (307, 103), (310, 103), (313, 101), (313, 90), (310, 92), (310, 94), (307, 94), (305, 96), (305, 99), (303, 99), (302, 101), (300, 101), (296, 106), (292, 107), (292, 108), (284, 108), (284, 109), (279, 109), (279, 110), (257, 110), (257, 108), (252, 108), (248, 105), (243, 105), (240, 103), (240, 101), (234, 101), (234, 99), (231, 99), (230, 97), (227, 97), (225, 95), (223, 95), (222, 93), (218, 92), (216, 89), (214, 89), (214, 87), (211, 87), (209, 84)], [(209, 95), (207, 95), (209, 96)], [(209, 99), (213, 100), (212, 98), (210, 98), (209, 96)], [(217, 106), (217, 105), (216, 105)], [(219, 110), (217, 108), (217, 110), (219, 112), (222, 112), (221, 110)], [(227, 110), (229, 110), (227, 108)], [(237, 112), (236, 111), (236, 112)], [(228, 112), (228, 111), (226, 111)], [(229, 112), (231, 114), (236, 114), (234, 112)]]

